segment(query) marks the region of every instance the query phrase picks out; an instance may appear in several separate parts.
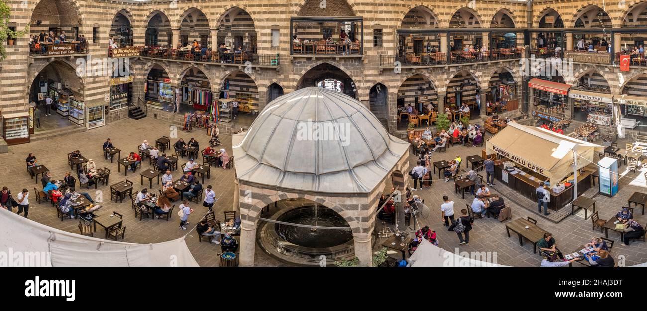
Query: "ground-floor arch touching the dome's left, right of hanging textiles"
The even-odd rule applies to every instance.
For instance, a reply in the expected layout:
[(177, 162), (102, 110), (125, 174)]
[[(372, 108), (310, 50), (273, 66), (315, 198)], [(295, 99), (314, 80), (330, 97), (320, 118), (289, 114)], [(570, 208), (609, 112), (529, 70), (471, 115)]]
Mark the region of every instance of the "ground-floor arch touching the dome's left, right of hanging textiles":
[[(248, 127), (252, 125), (259, 113), (258, 86), (254, 79), (241, 70), (235, 70), (226, 75), (220, 88), (219, 99), (229, 99), (226, 105), (233, 109), (234, 122), (237, 125)], [(221, 101), (221, 106), (223, 102)]]

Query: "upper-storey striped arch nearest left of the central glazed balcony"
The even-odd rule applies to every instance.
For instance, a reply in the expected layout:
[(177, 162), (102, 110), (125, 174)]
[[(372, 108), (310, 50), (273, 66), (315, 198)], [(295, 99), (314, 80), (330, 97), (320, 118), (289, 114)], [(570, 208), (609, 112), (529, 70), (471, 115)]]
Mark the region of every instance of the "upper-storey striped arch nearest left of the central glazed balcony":
[[(258, 35), (252, 16), (239, 7), (230, 8), (218, 21), (218, 46), (227, 46), (230, 50), (243, 48), (247, 53), (258, 50)], [(214, 48), (214, 47), (212, 47)]]

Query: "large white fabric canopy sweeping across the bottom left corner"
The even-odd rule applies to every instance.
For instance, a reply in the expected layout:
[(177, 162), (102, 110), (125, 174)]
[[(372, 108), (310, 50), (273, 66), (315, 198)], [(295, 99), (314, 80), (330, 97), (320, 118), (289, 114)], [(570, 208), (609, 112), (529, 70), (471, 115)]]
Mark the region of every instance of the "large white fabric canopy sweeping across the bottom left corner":
[(9, 257), (15, 262), (16, 256), (42, 254), (47, 260), (37, 266), (198, 266), (184, 238), (148, 245), (96, 239), (37, 223), (5, 208), (0, 208), (0, 236), (0, 260)]

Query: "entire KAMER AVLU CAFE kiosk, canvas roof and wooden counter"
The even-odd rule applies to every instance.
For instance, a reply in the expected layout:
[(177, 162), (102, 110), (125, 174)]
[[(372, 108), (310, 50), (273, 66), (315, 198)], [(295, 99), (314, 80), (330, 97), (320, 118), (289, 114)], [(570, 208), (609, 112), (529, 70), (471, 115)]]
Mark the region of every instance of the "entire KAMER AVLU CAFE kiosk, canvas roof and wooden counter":
[[(512, 190), (536, 201), (536, 188), (545, 183), (550, 188), (552, 210), (568, 205), (574, 199), (575, 182), (578, 196), (592, 186), (597, 171), (593, 163), (596, 152), (604, 147), (557, 134), (535, 126), (508, 123), (490, 137), (487, 154), (496, 154), (496, 179)], [(573, 172), (573, 150), (578, 154), (577, 181)]]

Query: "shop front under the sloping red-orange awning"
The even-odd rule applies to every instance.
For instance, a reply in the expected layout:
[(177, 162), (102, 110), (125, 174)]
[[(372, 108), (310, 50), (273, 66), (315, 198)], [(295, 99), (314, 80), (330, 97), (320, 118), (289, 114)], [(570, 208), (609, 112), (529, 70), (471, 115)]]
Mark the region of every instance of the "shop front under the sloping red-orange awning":
[(551, 122), (570, 119), (571, 111), (568, 105), (570, 85), (532, 78), (528, 82), (532, 88), (530, 95), (530, 113)]

